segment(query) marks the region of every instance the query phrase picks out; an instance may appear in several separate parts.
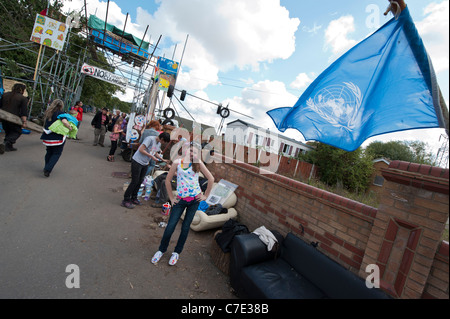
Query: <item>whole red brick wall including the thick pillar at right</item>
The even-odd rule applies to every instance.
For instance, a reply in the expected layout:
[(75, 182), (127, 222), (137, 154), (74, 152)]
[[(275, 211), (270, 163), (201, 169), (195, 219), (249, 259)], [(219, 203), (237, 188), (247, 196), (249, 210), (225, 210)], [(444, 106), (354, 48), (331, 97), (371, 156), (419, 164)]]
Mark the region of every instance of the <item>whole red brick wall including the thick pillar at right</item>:
[(376, 209), (228, 162), (208, 167), (216, 180), (239, 185), (236, 209), (250, 231), (263, 225), (293, 232), (363, 278), (366, 266), (377, 264), (382, 288), (395, 298), (448, 298), (448, 244), (440, 240), (448, 218), (448, 170), (392, 162)]

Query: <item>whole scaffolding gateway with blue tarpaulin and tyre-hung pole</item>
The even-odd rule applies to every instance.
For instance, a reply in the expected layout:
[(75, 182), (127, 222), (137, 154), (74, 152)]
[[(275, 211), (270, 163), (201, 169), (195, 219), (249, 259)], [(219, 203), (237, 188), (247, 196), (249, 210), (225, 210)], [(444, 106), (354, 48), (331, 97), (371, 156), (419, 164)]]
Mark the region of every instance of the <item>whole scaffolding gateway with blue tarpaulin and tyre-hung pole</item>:
[[(123, 29), (119, 30), (108, 24), (109, 0), (107, 2), (104, 21), (92, 15), (88, 20), (86, 1), (84, 7), (76, 14), (79, 15), (83, 10), (85, 17), (83, 18), (84, 23), (81, 30), (75, 34), (72, 32), (72, 28), (69, 27), (64, 47), (60, 51), (45, 46), (39, 47), (38, 44), (31, 41), (25, 43), (13, 43), (6, 39), (0, 39), (0, 53), (8, 50), (26, 50), (37, 56), (35, 67), (16, 63), (17, 67), (21, 68), (24, 72), (34, 74), (32, 80), (30, 77), (27, 79), (19, 79), (11, 76), (3, 76), (6, 79), (26, 82), (28, 87), (32, 87), (29, 94), (31, 102), (29, 117), (42, 116), (47, 109), (47, 106), (55, 98), (64, 101), (66, 110), (74, 105), (75, 102), (80, 99), (86, 78), (86, 74), (80, 72), (81, 67), (85, 63), (88, 64), (89, 61), (93, 59), (96, 61), (98, 67), (102, 67), (101, 65), (106, 68), (112, 67), (116, 75), (122, 76), (128, 80), (126, 88), (128, 90), (133, 90), (131, 113), (139, 115), (147, 114), (147, 120), (163, 118), (163, 114), (165, 114), (164, 106), (167, 104), (168, 108), (172, 108), (174, 113), (181, 118), (172, 98), (170, 97), (167, 103), (167, 92), (161, 91), (159, 89), (158, 81), (155, 80), (155, 67), (157, 65), (155, 52), (158, 49), (162, 36), (159, 36), (155, 45), (152, 45), (151, 43), (146, 43), (144, 41), (149, 26), (145, 29), (144, 36), (141, 39), (137, 39), (133, 35), (126, 33), (128, 13), (125, 18)], [(90, 22), (91, 20), (94, 22)], [(68, 25), (70, 25), (70, 23), (68, 23)], [(87, 45), (84, 47), (77, 45), (75, 41), (72, 41), (75, 37), (86, 39)], [(184, 49), (186, 48), (187, 40), (188, 36), (186, 37)], [(177, 46), (175, 46), (173, 56), (175, 56), (176, 47)], [(37, 50), (37, 48), (39, 48), (39, 50)], [(184, 56), (184, 49), (177, 72), (181, 69), (180, 66)], [(50, 54), (49, 51), (51, 52)], [(74, 52), (77, 52), (77, 54), (74, 54)], [(99, 61), (97, 57), (99, 53), (105, 57), (106, 63)], [(7, 63), (8, 61), (0, 56), (0, 65)], [(174, 90), (180, 91), (175, 89), (175, 85), (173, 85), (172, 95)], [(180, 92), (183, 92), (182, 96), (184, 97), (189, 95), (201, 99), (186, 93), (184, 90)], [(178, 104), (181, 105), (182, 109), (184, 109), (195, 122), (192, 114), (181, 102), (184, 100), (184, 97), (178, 99), (175, 96)], [(228, 106), (222, 107), (221, 104), (213, 103), (211, 101), (206, 102), (218, 107), (217, 114), (221, 117), (219, 132), (223, 128), (224, 119), (228, 117), (230, 112), (239, 113), (240, 115), (251, 118), (248, 115), (230, 109)], [(90, 101), (85, 101), (84, 104), (87, 103), (90, 104)]]

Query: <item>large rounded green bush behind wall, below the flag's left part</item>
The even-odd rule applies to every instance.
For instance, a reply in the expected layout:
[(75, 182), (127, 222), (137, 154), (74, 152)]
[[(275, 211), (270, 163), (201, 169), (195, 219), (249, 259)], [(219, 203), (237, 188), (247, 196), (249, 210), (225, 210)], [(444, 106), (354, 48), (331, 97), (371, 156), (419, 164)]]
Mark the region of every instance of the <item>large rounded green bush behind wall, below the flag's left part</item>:
[(373, 172), (372, 157), (362, 148), (353, 152), (316, 143), (315, 149), (302, 155), (302, 160), (319, 168), (320, 180), (329, 186), (342, 185), (349, 191), (365, 192)]

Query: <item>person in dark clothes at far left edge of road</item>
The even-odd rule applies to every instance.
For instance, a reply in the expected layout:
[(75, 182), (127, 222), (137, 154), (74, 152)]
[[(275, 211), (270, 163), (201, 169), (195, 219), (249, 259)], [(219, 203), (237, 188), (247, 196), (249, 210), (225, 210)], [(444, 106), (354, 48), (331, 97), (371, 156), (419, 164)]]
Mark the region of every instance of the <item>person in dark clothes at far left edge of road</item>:
[(0, 109), (17, 115), (22, 120), (22, 125), (3, 121), (3, 129), (5, 130), (5, 140), (0, 144), (0, 154), (6, 152), (17, 151), (13, 145), (22, 135), (22, 128), (27, 127), (27, 106), (28, 99), (23, 96), (26, 86), (22, 83), (16, 83), (12, 87), (11, 92), (3, 94), (0, 98)]

